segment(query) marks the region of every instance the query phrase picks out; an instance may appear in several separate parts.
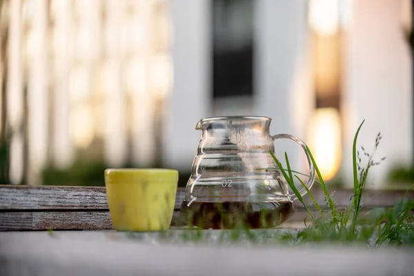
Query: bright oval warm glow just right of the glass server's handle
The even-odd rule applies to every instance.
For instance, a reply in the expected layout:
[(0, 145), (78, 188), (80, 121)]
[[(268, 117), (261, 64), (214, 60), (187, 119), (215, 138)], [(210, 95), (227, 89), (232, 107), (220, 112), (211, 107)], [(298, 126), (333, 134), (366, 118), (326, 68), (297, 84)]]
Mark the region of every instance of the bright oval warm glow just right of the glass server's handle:
[(311, 124), (308, 146), (324, 180), (332, 179), (341, 160), (341, 121), (335, 108), (315, 110)]

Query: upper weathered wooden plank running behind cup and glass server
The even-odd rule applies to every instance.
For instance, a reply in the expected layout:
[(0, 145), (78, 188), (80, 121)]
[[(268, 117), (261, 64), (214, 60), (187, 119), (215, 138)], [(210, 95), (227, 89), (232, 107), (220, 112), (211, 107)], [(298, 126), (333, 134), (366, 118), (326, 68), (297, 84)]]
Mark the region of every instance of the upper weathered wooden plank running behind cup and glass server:
[[(314, 189), (313, 194), (319, 204), (324, 204), (325, 198), (321, 190)], [(366, 190), (362, 203), (365, 206), (391, 207), (404, 197), (405, 190)], [(175, 210), (179, 210), (184, 199), (185, 189), (177, 189)], [(352, 190), (337, 189), (333, 198), (337, 206), (347, 206)], [(406, 195), (414, 200), (414, 190)], [(312, 205), (310, 197), (304, 196), (304, 201)], [(295, 206), (301, 206), (299, 201)], [(5, 210), (108, 210), (105, 187), (78, 186), (0, 186), (0, 212)]]

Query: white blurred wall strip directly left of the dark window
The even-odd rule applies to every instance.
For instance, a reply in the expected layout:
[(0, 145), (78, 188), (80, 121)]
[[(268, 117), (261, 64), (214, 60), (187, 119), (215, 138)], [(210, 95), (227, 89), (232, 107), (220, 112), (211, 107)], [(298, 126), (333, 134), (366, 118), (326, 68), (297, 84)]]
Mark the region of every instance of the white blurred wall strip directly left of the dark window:
[(210, 5), (204, 0), (172, 0), (169, 6), (174, 81), (166, 110), (164, 164), (189, 171), (200, 138), (195, 126), (208, 116), (212, 100)]

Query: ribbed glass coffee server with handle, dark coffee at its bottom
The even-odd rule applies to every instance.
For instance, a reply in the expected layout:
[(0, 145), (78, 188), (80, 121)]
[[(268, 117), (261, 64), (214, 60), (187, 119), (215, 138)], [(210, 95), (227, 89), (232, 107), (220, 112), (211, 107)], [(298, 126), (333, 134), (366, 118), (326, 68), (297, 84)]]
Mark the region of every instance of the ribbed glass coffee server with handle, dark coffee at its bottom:
[[(199, 228), (272, 228), (294, 213), (295, 195), (270, 152), (274, 141), (292, 139), (302, 146), (309, 164), (308, 188), (315, 169), (302, 140), (270, 135), (269, 117), (210, 117), (201, 130), (192, 175), (181, 204), (181, 219)], [(304, 195), (306, 189), (300, 193)]]

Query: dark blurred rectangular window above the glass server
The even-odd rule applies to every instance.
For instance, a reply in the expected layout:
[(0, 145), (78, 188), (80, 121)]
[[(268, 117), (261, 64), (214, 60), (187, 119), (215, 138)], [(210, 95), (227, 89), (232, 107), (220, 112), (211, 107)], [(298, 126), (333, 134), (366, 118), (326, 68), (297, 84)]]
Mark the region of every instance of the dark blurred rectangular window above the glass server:
[(253, 95), (253, 0), (213, 1), (213, 97)]

